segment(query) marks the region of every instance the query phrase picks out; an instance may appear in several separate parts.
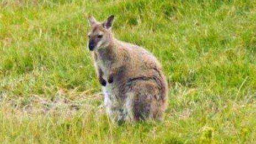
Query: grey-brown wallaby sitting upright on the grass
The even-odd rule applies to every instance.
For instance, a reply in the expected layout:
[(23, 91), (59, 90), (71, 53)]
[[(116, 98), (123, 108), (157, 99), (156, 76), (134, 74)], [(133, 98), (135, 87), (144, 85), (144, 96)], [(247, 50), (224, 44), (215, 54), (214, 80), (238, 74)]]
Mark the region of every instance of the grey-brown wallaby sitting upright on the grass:
[(162, 120), (167, 82), (156, 58), (140, 46), (111, 33), (114, 15), (100, 23), (89, 16), (88, 47), (103, 86), (106, 113), (117, 122)]

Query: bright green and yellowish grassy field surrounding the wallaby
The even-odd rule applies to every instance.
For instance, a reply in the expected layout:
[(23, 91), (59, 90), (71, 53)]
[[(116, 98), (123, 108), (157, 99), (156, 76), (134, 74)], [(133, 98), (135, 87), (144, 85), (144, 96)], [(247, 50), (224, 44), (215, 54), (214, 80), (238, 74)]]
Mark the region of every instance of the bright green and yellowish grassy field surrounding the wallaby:
[[(86, 15), (168, 78), (163, 122), (105, 115)], [(0, 1), (1, 143), (255, 143), (256, 1)]]

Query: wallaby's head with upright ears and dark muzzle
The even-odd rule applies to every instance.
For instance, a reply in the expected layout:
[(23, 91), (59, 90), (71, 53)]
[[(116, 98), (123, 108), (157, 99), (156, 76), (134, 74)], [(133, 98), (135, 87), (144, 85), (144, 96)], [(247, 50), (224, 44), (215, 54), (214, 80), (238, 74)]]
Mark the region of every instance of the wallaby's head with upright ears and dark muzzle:
[(90, 51), (95, 49), (103, 49), (110, 44), (112, 39), (111, 27), (114, 22), (114, 15), (110, 15), (105, 22), (100, 23), (97, 20), (89, 16), (88, 22), (90, 24), (90, 32), (88, 34), (88, 47)]

